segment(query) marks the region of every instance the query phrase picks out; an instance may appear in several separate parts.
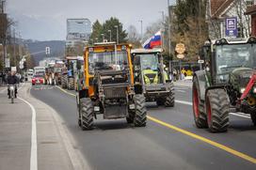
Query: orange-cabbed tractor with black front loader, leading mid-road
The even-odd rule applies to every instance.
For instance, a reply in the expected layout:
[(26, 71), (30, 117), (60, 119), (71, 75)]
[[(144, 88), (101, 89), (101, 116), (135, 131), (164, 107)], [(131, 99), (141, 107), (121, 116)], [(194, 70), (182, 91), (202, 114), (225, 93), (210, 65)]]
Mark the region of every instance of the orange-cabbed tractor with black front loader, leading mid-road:
[[(126, 118), (137, 127), (146, 126), (145, 98), (134, 91), (131, 46), (95, 44), (84, 53), (84, 81), (77, 92), (78, 124), (93, 128), (94, 118)], [(78, 66), (80, 68), (80, 66)]]

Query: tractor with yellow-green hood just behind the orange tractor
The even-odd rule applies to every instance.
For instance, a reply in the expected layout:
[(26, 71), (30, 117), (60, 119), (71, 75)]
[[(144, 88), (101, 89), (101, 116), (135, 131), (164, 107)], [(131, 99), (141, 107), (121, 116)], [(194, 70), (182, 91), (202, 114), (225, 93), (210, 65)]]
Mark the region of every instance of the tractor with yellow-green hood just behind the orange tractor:
[[(135, 91), (157, 105), (174, 106), (174, 86), (164, 67), (161, 49), (132, 50)], [(166, 69), (166, 70), (165, 70)]]

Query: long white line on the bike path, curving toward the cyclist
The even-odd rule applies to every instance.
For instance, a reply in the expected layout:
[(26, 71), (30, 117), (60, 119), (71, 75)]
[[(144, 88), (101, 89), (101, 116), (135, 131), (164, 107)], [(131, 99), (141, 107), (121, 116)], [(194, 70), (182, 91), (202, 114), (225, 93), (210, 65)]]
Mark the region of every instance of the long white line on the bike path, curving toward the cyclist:
[[(19, 89), (21, 89), (21, 86)], [(20, 97), (19, 100), (23, 100), (27, 105), (29, 105), (32, 111), (32, 120), (31, 120), (31, 151), (30, 151), (30, 170), (38, 170), (38, 140), (37, 140), (37, 113), (35, 107)]]

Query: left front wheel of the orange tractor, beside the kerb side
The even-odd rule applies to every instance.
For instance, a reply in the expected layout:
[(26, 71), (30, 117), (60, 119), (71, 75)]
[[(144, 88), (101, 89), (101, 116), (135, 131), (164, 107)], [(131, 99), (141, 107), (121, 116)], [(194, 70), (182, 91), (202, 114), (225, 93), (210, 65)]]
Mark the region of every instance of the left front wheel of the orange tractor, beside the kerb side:
[(92, 102), (89, 98), (84, 98), (80, 100), (80, 119), (81, 121), (81, 129), (83, 131), (92, 130), (93, 128), (93, 106)]

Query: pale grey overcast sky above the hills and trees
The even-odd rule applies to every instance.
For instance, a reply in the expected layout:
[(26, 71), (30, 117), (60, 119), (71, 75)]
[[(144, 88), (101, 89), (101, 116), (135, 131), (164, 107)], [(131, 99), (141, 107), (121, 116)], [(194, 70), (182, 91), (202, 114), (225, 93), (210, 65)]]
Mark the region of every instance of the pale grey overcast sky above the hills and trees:
[[(24, 39), (53, 40), (66, 38), (67, 18), (97, 19), (103, 23), (111, 16), (127, 28), (139, 20), (146, 28), (168, 11), (168, 0), (7, 0), (7, 12), (17, 21)], [(175, 0), (169, 0), (172, 5)]]

